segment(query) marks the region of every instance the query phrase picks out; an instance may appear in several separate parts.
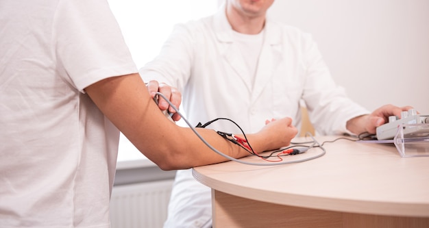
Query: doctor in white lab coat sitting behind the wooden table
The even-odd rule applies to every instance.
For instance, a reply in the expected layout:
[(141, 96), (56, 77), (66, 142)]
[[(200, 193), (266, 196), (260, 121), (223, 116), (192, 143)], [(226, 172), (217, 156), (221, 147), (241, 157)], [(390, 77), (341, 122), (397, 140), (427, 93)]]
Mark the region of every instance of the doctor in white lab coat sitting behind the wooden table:
[[(272, 3), (227, 0), (213, 16), (177, 25), (140, 75), (182, 91), (193, 125), (225, 117), (249, 132), (285, 116), (299, 129), (300, 101), (319, 134), (374, 133), (387, 116), (410, 108), (385, 105), (369, 114), (351, 101), (309, 34), (266, 18)], [(218, 122), (210, 126), (239, 132)], [(164, 227), (211, 227), (210, 197), (210, 188), (195, 181), (191, 170), (177, 171)]]

